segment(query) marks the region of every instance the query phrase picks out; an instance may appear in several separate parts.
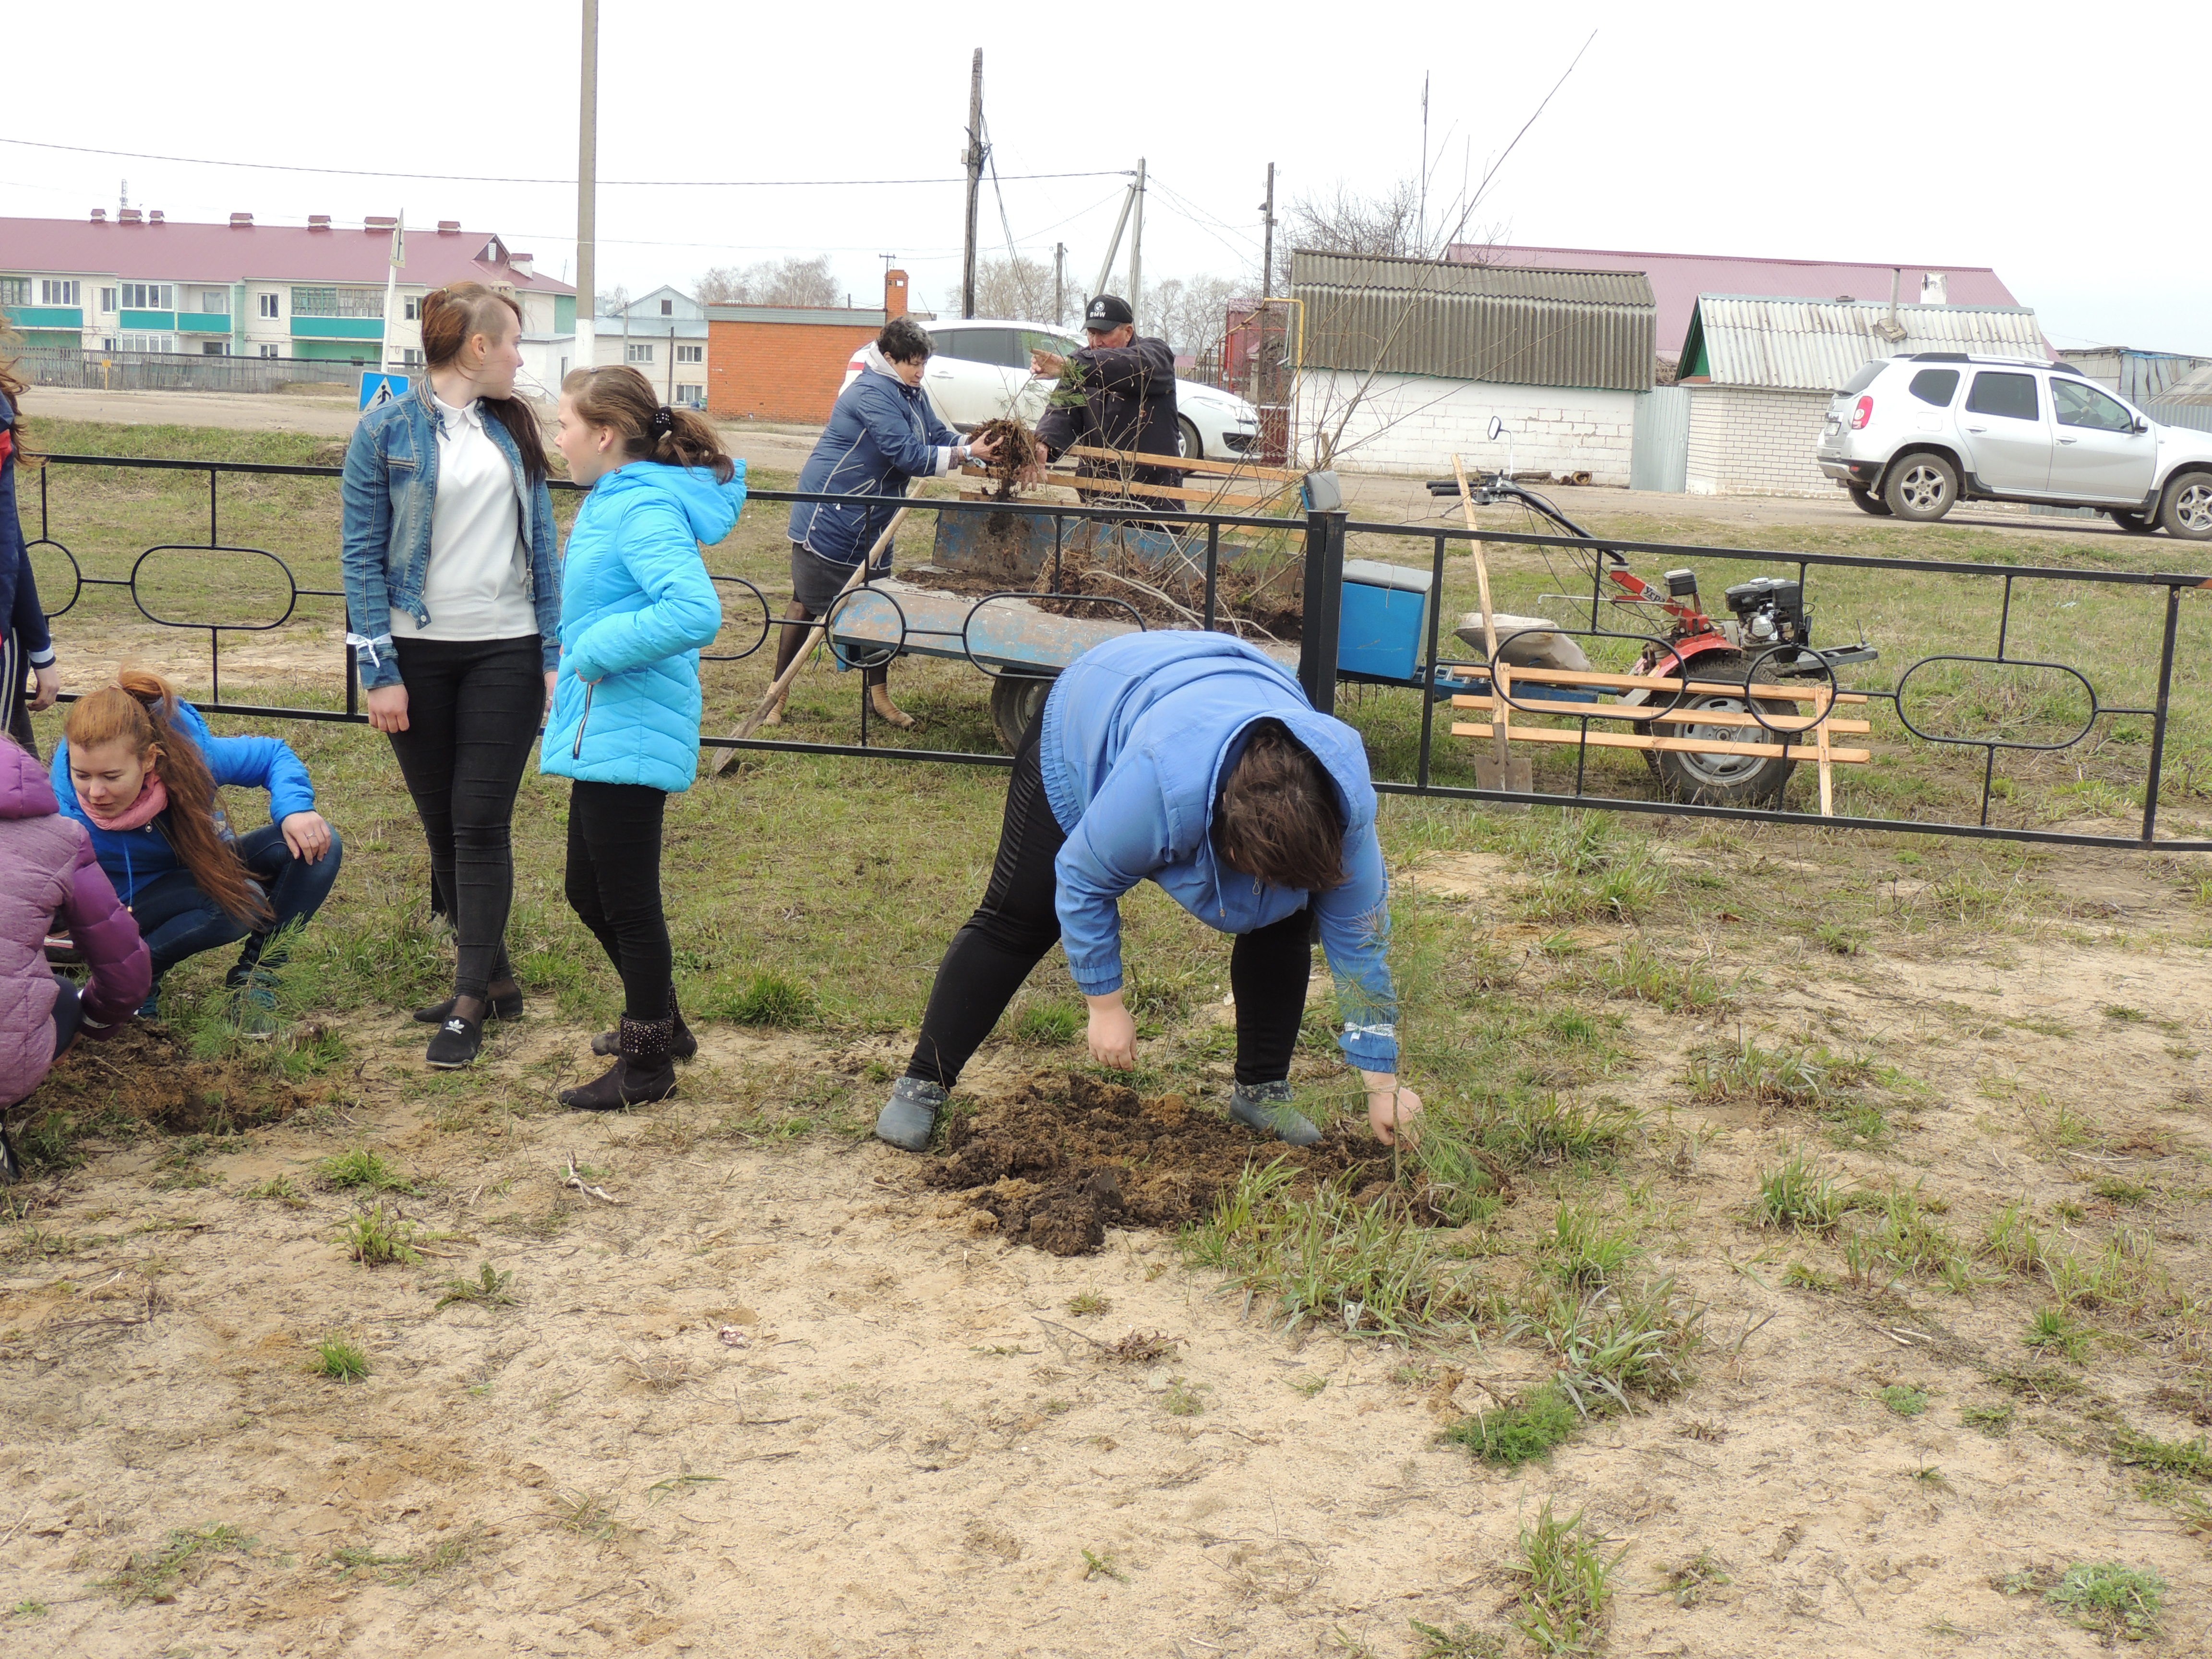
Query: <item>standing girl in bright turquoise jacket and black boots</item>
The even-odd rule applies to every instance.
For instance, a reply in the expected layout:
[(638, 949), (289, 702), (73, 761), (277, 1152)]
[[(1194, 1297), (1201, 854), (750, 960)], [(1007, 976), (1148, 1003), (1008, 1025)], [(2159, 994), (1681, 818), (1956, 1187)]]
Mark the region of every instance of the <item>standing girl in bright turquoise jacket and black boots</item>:
[(699, 1051), (677, 1011), (661, 814), (699, 772), (699, 648), (721, 630), (699, 544), (737, 524), (745, 462), (626, 365), (562, 383), (555, 445), (591, 495), (568, 533), (560, 679), (538, 765), (575, 779), (568, 902), (622, 973), (622, 1022), (593, 1042), (615, 1064), (560, 1102), (611, 1113), (668, 1099), (670, 1062)]

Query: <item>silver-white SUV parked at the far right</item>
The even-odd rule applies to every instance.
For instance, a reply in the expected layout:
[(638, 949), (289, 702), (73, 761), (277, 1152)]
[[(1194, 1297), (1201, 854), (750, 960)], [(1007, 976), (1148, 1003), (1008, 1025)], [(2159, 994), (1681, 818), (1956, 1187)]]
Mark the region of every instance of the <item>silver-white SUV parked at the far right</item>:
[(1827, 405), (1820, 471), (1865, 511), (1958, 500), (2101, 507), (2126, 531), (2212, 540), (2212, 431), (2163, 427), (2064, 363), (1876, 358)]

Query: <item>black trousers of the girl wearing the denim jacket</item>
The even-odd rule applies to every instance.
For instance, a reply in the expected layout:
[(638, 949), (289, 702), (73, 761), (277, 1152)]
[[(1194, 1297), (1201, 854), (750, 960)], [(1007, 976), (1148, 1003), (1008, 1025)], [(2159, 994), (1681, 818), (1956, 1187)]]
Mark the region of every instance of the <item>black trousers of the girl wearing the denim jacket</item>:
[(546, 706), (544, 653), (524, 639), (394, 639), (407, 730), (392, 732), (407, 794), (429, 838), (429, 874), (453, 914), (453, 995), (511, 980), (515, 790)]

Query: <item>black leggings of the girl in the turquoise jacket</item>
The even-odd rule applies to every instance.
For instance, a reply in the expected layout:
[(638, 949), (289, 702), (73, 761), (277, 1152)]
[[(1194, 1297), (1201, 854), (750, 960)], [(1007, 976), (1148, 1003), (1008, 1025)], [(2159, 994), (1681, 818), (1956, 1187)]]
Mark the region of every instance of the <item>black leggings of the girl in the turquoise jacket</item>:
[(661, 814), (644, 783), (575, 781), (568, 792), (568, 905), (622, 975), (630, 1020), (666, 1020), (675, 993), (661, 914)]

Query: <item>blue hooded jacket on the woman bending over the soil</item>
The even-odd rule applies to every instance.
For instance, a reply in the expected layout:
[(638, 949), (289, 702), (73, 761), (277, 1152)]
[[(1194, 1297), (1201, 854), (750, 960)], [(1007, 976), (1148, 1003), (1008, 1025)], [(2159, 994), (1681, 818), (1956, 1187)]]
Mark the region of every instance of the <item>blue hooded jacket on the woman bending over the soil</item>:
[[(1214, 803), (1254, 721), (1290, 728), (1336, 783), (1345, 810), (1340, 887), (1270, 887), (1214, 856)], [(1121, 989), (1119, 898), (1139, 880), (1208, 927), (1250, 933), (1312, 900), (1345, 1013), (1338, 1044), (1363, 1071), (1398, 1066), (1389, 880), (1360, 734), (1316, 714), (1290, 672), (1219, 633), (1152, 630), (1077, 657), (1044, 699), (1037, 734), (1060, 849), (1060, 942), (1084, 995)]]

